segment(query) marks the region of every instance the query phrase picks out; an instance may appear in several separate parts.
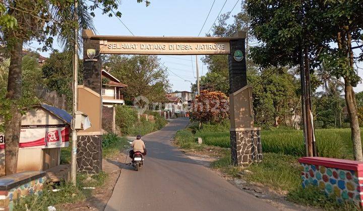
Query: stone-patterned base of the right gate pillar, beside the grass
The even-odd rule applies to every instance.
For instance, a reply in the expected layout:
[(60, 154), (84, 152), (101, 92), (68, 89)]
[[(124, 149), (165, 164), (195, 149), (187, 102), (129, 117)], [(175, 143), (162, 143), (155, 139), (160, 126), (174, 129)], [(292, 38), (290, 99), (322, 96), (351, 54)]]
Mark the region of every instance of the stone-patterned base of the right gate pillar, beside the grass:
[(230, 131), (230, 143), (233, 165), (249, 166), (262, 161), (260, 128)]

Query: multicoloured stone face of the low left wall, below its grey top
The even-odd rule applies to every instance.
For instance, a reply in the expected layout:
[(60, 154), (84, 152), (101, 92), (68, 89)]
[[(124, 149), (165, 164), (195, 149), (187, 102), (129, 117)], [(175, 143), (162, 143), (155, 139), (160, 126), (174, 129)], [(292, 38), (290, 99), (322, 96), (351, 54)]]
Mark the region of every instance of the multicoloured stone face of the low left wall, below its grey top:
[(0, 210), (13, 210), (14, 200), (29, 194), (39, 194), (43, 190), (45, 177), (34, 179), (10, 190), (0, 190)]

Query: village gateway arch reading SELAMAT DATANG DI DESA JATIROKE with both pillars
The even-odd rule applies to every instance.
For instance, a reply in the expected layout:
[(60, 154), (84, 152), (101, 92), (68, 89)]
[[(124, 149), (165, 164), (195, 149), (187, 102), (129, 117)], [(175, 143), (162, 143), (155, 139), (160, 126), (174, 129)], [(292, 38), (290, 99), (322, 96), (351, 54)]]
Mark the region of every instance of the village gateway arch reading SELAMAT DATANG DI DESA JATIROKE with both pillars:
[(230, 144), (234, 165), (262, 160), (260, 128), (254, 127), (252, 87), (247, 84), (245, 32), (233, 37), (137, 37), (94, 35), (82, 32), (83, 85), (78, 87), (78, 110), (89, 116), (92, 127), (79, 132), (78, 170), (102, 170), (101, 54), (208, 55), (228, 54), (230, 85)]

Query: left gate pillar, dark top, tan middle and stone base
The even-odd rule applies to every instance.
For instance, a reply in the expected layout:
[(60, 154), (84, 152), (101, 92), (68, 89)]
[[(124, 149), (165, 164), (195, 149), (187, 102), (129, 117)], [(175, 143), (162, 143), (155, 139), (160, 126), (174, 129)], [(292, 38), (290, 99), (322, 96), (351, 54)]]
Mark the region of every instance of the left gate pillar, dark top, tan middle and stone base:
[[(101, 98), (101, 56), (99, 54), (99, 40), (88, 36), (89, 30), (82, 32), (83, 37), (83, 85), (92, 93), (92, 97), (79, 94), (78, 110), (85, 112), (92, 123), (92, 127), (81, 131), (77, 144), (78, 171), (95, 174), (102, 171), (102, 98)], [(93, 33), (92, 33), (93, 34)], [(87, 49), (95, 49), (87, 53)], [(82, 101), (83, 100), (83, 101)]]

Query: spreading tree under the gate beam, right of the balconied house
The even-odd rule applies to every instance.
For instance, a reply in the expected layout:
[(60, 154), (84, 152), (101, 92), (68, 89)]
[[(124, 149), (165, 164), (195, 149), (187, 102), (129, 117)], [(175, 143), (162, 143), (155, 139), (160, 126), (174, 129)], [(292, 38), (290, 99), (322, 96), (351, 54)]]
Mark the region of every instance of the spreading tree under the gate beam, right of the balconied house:
[(167, 70), (160, 66), (159, 58), (154, 55), (106, 57), (104, 66), (123, 83), (127, 100), (145, 96), (149, 102), (163, 102), (165, 93), (170, 89)]

